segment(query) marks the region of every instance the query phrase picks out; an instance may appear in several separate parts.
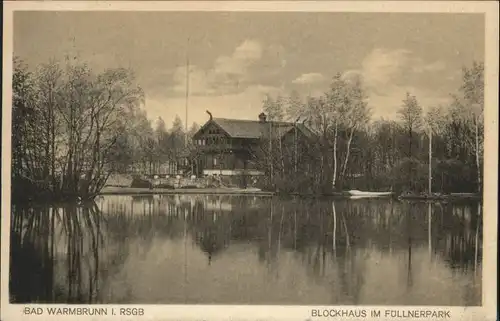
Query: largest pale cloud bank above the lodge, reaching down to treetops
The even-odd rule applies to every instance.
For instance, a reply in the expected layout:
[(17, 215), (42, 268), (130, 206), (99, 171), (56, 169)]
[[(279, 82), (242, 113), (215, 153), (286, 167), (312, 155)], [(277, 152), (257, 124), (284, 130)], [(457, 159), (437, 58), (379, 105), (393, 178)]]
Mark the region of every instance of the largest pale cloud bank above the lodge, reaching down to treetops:
[[(286, 65), (283, 53), (279, 45), (264, 47), (258, 41), (245, 40), (230, 54), (217, 57), (208, 68), (190, 65), (189, 125), (205, 123), (207, 109), (214, 117), (257, 119), (267, 94), (285, 94), (276, 81), (268, 79), (277, 71), (281, 75)], [(185, 122), (187, 71), (186, 66), (175, 68), (173, 84), (146, 97), (148, 118), (162, 117), (169, 126), (169, 120), (177, 115)]]

